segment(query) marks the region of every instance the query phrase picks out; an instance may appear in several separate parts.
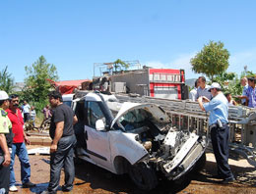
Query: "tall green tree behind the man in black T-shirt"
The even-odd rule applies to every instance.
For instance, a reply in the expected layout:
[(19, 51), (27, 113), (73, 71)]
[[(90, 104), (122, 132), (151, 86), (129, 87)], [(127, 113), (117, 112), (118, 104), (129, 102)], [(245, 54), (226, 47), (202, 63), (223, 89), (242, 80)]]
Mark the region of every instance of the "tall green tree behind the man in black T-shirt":
[(34, 103), (41, 103), (36, 107), (41, 109), (46, 104), (47, 94), (52, 87), (46, 79), (58, 80), (56, 67), (48, 64), (45, 58), (40, 56), (31, 67), (26, 66), (25, 71), (28, 77), (25, 79), (26, 87), (23, 91), (23, 98)]

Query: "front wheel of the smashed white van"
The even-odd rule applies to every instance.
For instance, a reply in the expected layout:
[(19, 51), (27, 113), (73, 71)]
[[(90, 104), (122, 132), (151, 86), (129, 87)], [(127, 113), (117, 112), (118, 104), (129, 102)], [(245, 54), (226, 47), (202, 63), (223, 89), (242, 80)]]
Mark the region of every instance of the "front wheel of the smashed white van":
[(158, 185), (157, 174), (149, 166), (140, 163), (129, 167), (129, 176), (133, 183), (142, 190), (152, 190)]

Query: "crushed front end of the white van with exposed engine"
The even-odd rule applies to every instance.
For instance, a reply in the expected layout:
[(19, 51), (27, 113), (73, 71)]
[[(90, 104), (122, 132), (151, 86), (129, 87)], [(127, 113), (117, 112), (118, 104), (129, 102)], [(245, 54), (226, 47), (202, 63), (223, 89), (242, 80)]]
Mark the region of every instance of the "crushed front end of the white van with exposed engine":
[[(140, 136), (142, 136), (141, 134)], [(175, 180), (192, 170), (205, 154), (206, 138), (189, 131), (169, 128), (166, 134), (159, 133), (152, 141), (143, 141), (149, 157), (145, 163), (160, 171), (169, 180)], [(157, 149), (156, 149), (157, 148)]]

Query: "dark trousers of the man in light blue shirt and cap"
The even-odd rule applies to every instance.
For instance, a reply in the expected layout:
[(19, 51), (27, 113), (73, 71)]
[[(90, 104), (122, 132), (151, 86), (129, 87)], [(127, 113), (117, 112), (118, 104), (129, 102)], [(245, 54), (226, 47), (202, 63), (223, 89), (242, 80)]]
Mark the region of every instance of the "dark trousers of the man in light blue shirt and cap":
[(224, 178), (233, 177), (228, 165), (228, 136), (229, 127), (227, 124), (223, 124), (223, 127), (220, 127), (217, 124), (215, 127), (211, 128), (211, 139), (217, 162), (218, 174), (222, 175)]

